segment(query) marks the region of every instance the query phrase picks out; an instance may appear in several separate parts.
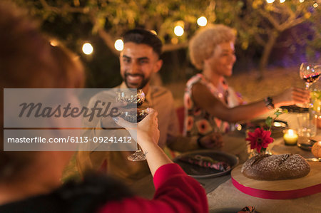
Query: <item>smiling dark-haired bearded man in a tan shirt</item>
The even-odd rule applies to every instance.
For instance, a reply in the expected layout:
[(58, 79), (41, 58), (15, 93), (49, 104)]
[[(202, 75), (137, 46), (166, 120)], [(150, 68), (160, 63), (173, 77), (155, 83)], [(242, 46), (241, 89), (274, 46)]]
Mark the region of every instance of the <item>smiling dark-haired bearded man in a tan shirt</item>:
[[(178, 118), (175, 113), (173, 95), (166, 88), (151, 85), (153, 73), (157, 73), (163, 64), (161, 60), (161, 40), (150, 31), (133, 29), (123, 36), (124, 48), (119, 60), (123, 82), (116, 88), (143, 89), (146, 99), (142, 108), (153, 108), (158, 112), (158, 128), (160, 139), (158, 145), (172, 150), (184, 152), (199, 148), (196, 137), (181, 137), (178, 129)], [(104, 98), (104, 93), (98, 93), (91, 98), (88, 108), (96, 100)], [(92, 105), (91, 105), (92, 104)], [(106, 128), (111, 120), (96, 120), (96, 128)], [(86, 124), (85, 124), (86, 125)], [(88, 126), (92, 127), (92, 126)], [(88, 130), (87, 135), (100, 136), (99, 131)], [(87, 169), (104, 170), (129, 184), (149, 174), (146, 161), (131, 162), (127, 156), (132, 152), (78, 152), (78, 171), (83, 174)], [(148, 155), (148, 153), (146, 154)]]

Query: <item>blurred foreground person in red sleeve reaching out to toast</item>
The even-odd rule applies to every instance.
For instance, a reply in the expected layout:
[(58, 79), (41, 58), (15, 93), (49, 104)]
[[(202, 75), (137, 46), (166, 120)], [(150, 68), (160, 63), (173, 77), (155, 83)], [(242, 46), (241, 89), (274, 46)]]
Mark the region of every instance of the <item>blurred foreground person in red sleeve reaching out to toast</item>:
[[(4, 88), (83, 86), (83, 67), (73, 53), (51, 46), (21, 10), (6, 1), (0, 2), (0, 31), (0, 81)], [(1, 97), (1, 102), (3, 100)], [(4, 151), (3, 105), (1, 103), (1, 213), (208, 212), (203, 187), (158, 147), (155, 110), (151, 109), (136, 128), (121, 118), (116, 119), (118, 125), (136, 137), (146, 153), (156, 187), (153, 199), (148, 200), (136, 197), (117, 180), (97, 174), (61, 185), (61, 173), (72, 152)]]

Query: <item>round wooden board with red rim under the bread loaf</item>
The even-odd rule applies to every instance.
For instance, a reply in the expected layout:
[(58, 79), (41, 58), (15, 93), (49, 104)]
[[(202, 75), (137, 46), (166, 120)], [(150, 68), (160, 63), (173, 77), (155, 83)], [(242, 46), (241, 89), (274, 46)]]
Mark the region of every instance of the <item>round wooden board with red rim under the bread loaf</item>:
[(253, 180), (238, 165), (231, 172), (233, 185), (245, 194), (265, 199), (294, 199), (321, 192), (321, 162), (309, 162), (310, 173), (292, 180)]

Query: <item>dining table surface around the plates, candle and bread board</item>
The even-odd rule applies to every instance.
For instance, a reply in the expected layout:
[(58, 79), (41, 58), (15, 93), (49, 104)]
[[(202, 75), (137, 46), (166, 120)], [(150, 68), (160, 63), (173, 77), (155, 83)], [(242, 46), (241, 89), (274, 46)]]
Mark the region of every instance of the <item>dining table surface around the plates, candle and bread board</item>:
[[(273, 112), (270, 112), (256, 119), (265, 119), (272, 115)], [(297, 115), (298, 113), (283, 113), (277, 119), (285, 121), (288, 128), (297, 130)], [(239, 165), (242, 165), (249, 157), (249, 147), (245, 137), (246, 132), (244, 130), (235, 130), (223, 135), (224, 146), (219, 151), (237, 156)], [(321, 140), (321, 130), (317, 129), (317, 135), (311, 139)], [(305, 143), (307, 140), (307, 137), (299, 137), (298, 143)], [(274, 142), (269, 145), (269, 148), (273, 155), (292, 153), (305, 158), (314, 158), (310, 150), (303, 150), (297, 145), (285, 145), (282, 134), (274, 137)], [(318, 163), (321, 164), (321, 162)], [(321, 212), (320, 192), (295, 199), (264, 199), (245, 194), (237, 189), (233, 185), (230, 173), (218, 177), (195, 179), (205, 189), (210, 212), (238, 212), (237, 209), (240, 210), (246, 206), (253, 206), (258, 212)], [(153, 177), (148, 175), (135, 182), (131, 188), (138, 195), (151, 199), (155, 192)]]

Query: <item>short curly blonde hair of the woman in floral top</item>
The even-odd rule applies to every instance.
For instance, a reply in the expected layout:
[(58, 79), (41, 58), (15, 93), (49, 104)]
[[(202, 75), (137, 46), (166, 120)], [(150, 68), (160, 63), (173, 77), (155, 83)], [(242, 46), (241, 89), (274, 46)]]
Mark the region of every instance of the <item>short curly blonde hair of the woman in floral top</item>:
[(190, 60), (195, 68), (203, 69), (203, 62), (210, 58), (216, 46), (224, 42), (235, 42), (232, 28), (223, 24), (215, 24), (198, 31), (190, 40)]

